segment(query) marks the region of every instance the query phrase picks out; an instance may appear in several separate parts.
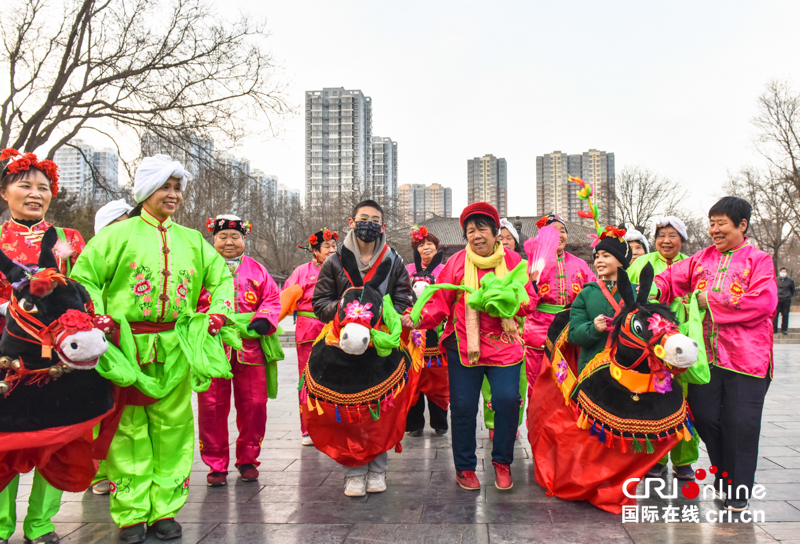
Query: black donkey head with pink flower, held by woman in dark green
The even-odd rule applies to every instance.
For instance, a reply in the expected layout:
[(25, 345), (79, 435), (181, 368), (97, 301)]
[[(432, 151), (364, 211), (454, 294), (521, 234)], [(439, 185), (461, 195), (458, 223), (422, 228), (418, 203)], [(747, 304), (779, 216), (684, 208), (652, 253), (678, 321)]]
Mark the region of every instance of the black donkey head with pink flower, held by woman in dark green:
[(614, 319), (610, 341), (612, 358), (619, 367), (655, 374), (659, 383), (667, 380), (667, 374), (680, 374), (692, 366), (698, 348), (678, 331), (675, 314), (667, 306), (648, 302), (653, 279), (653, 267), (647, 264), (634, 294), (628, 274), (619, 269), (617, 289), (624, 306)]

